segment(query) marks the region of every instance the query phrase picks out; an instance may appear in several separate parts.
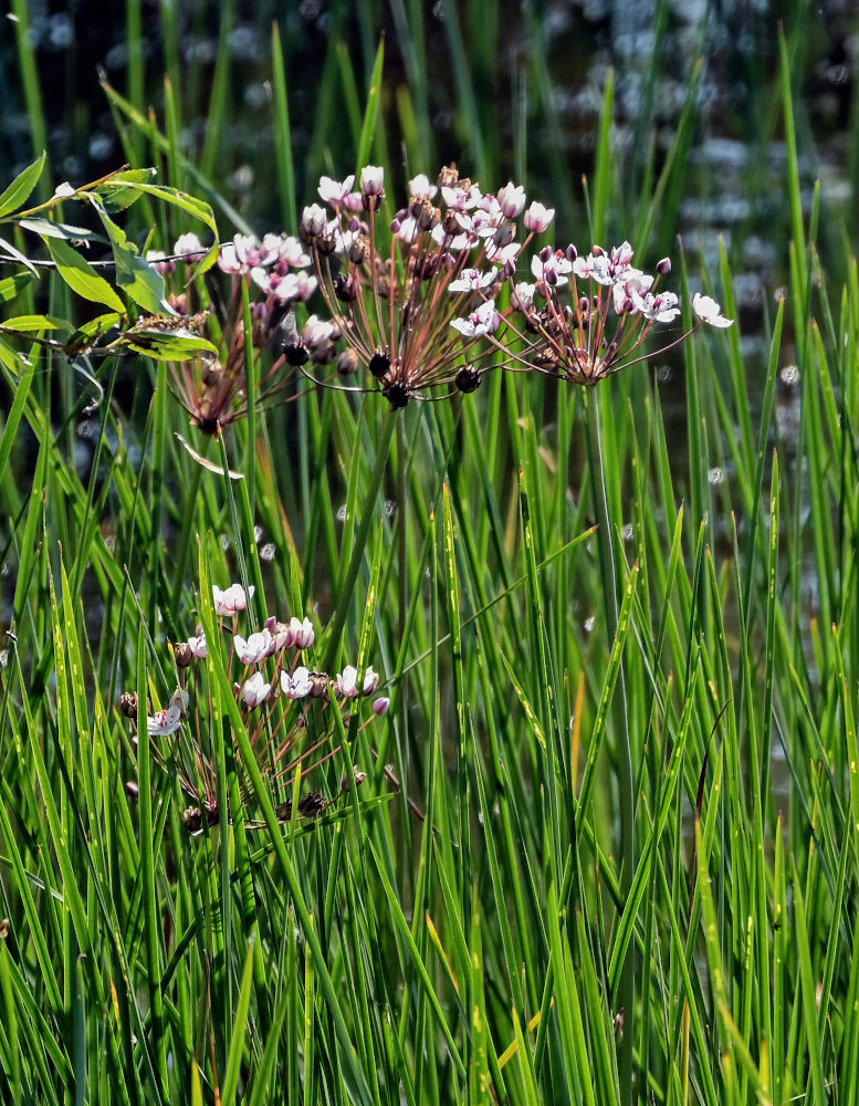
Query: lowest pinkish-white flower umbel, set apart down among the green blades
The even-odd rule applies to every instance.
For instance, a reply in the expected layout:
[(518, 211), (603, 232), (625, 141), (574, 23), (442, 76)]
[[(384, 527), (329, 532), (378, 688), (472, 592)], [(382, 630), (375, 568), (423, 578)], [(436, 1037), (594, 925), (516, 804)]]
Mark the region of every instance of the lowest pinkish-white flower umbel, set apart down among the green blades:
[[(279, 820), (318, 817), (366, 776), (350, 765), (335, 793), (307, 790), (303, 781), (343, 753), (338, 734), (348, 726), (345, 714), (360, 710), (362, 701), (371, 700), (367, 718), (360, 723), (363, 729), (387, 712), (389, 700), (375, 696), (379, 677), (373, 668), (359, 674), (352, 665), (336, 677), (312, 670), (306, 662), (315, 639), (310, 618), (293, 617), (285, 623), (271, 617), (260, 629), (242, 636), (240, 616), (253, 597), (253, 588), (248, 594), (240, 584), (232, 584), (224, 589), (216, 586), (212, 593), (220, 619), (218, 640), (208, 641), (198, 627), (186, 641), (174, 646), (179, 686), (166, 708), (146, 716), (154, 760), (165, 772), (176, 775), (191, 802), (182, 813), (182, 824), (190, 833), (199, 833), (221, 817), (217, 764), (223, 750), (219, 751), (216, 742), (223, 738), (220, 724), (211, 720), (206, 665), (210, 648), (222, 650), (226, 670), (237, 676), (233, 695), (248, 727), (254, 760), (272, 787)], [(119, 709), (132, 720), (136, 747), (143, 716), (137, 695), (123, 695)], [(231, 754), (247, 815), (253, 806), (253, 792), (235, 741)], [(232, 810), (227, 813), (229, 821), (240, 816)], [(247, 824), (250, 828), (262, 825), (259, 821)]]

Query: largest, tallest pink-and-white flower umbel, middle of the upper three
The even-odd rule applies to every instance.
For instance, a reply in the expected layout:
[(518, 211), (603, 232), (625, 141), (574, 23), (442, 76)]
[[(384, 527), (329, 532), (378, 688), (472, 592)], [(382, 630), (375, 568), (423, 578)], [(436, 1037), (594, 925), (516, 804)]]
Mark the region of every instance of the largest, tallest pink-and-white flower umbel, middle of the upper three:
[[(300, 237), (346, 344), (339, 372), (363, 365), (395, 408), (473, 392), (497, 361), (480, 341), (499, 327), (496, 296), (554, 211), (526, 207), (513, 184), (484, 194), (454, 167), (436, 182), (413, 177), (392, 220), (383, 215), (378, 166), (364, 168), (357, 187), (353, 176), (323, 177), (319, 197), (325, 206), (304, 209)], [(307, 359), (301, 342), (291, 355), (296, 364)], [(433, 396), (438, 388), (442, 395)]]

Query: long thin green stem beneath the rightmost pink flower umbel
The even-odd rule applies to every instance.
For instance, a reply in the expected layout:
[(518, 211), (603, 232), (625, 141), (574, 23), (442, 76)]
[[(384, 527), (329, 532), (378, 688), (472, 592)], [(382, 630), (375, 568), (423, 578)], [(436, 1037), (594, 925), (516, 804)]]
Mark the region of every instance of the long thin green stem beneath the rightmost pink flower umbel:
[[(588, 457), (590, 469), (591, 494), (594, 510), (598, 524), (597, 540), (599, 547), (600, 574), (604, 583), (603, 601), (606, 614), (606, 637), (614, 641), (618, 628), (619, 598), (617, 561), (615, 556), (615, 536), (609, 517), (608, 490), (603, 451), (601, 394), (598, 389), (585, 389), (585, 408), (587, 410)], [(620, 890), (626, 897), (635, 875), (636, 835), (635, 835), (635, 794), (632, 776), (632, 750), (629, 742), (629, 718), (627, 714), (627, 691), (624, 666), (618, 677), (619, 695), (615, 696), (614, 713), (618, 734), (618, 800), (620, 806)], [(620, 970), (620, 987), (617, 997), (617, 1010), (624, 1011), (624, 1035), (619, 1047), (620, 1100), (632, 1102), (632, 1045), (635, 1041), (635, 948), (630, 943)]]

